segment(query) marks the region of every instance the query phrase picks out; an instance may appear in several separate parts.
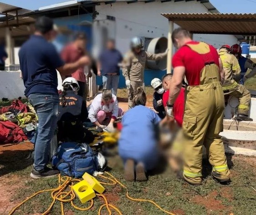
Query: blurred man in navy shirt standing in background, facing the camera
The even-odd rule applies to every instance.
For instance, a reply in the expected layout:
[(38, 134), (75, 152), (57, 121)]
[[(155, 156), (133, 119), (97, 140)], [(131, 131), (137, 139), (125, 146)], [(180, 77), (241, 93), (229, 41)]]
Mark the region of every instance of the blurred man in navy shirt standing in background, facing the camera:
[(102, 75), (103, 89), (112, 90), (115, 96), (118, 92), (120, 75), (118, 64), (122, 60), (122, 54), (115, 48), (115, 41), (108, 40), (107, 49), (99, 57), (98, 76)]

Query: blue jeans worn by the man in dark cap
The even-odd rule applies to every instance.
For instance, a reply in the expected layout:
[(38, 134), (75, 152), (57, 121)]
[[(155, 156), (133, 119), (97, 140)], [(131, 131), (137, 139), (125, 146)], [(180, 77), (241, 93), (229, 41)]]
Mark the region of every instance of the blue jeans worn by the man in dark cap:
[(34, 168), (40, 171), (49, 162), (50, 142), (57, 128), (59, 96), (34, 93), (29, 95), (28, 100), (35, 108), (38, 117)]

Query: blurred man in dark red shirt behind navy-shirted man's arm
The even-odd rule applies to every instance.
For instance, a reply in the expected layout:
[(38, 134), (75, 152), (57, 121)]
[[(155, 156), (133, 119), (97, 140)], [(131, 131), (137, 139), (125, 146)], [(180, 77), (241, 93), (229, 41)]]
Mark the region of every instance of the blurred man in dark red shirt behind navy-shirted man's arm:
[[(75, 37), (75, 41), (68, 44), (61, 51), (61, 58), (66, 63), (72, 63), (80, 59), (82, 56), (86, 55), (86, 43), (87, 37), (83, 33), (78, 33)], [(83, 100), (86, 101), (85, 97), (85, 85), (86, 85), (86, 76), (84, 74), (84, 67), (80, 67), (76, 72), (71, 75), (75, 78), (79, 84), (79, 91), (77, 95), (82, 96)]]

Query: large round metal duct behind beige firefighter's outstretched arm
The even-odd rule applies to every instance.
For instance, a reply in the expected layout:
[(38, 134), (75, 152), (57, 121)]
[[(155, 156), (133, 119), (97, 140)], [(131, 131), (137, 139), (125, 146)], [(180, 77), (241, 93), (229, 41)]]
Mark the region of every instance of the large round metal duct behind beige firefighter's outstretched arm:
[[(148, 45), (145, 45), (145, 51), (151, 52), (151, 53), (163, 53), (167, 49), (168, 40), (166, 37), (157, 37), (151, 40)], [(146, 62), (146, 66), (149, 69), (154, 70), (165, 70), (166, 69), (166, 57), (164, 57), (162, 60), (159, 61), (150, 61), (148, 60)]]

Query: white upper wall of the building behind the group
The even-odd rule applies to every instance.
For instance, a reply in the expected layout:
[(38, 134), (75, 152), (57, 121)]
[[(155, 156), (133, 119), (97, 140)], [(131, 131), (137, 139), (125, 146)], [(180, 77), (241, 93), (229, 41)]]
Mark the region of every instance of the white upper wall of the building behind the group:
[[(116, 42), (122, 53), (129, 48), (129, 41), (133, 36), (149, 38), (167, 36), (168, 20), (161, 13), (205, 13), (208, 10), (200, 2), (165, 2), (155, 1), (151, 3), (137, 2), (127, 4), (125, 2), (96, 6), (97, 20), (106, 19), (106, 15), (116, 18)], [(102, 22), (102, 21), (101, 21)], [(175, 26), (177, 27), (177, 26)], [(223, 44), (235, 44), (235, 36), (225, 35), (194, 35), (194, 39), (205, 41), (216, 48)]]

